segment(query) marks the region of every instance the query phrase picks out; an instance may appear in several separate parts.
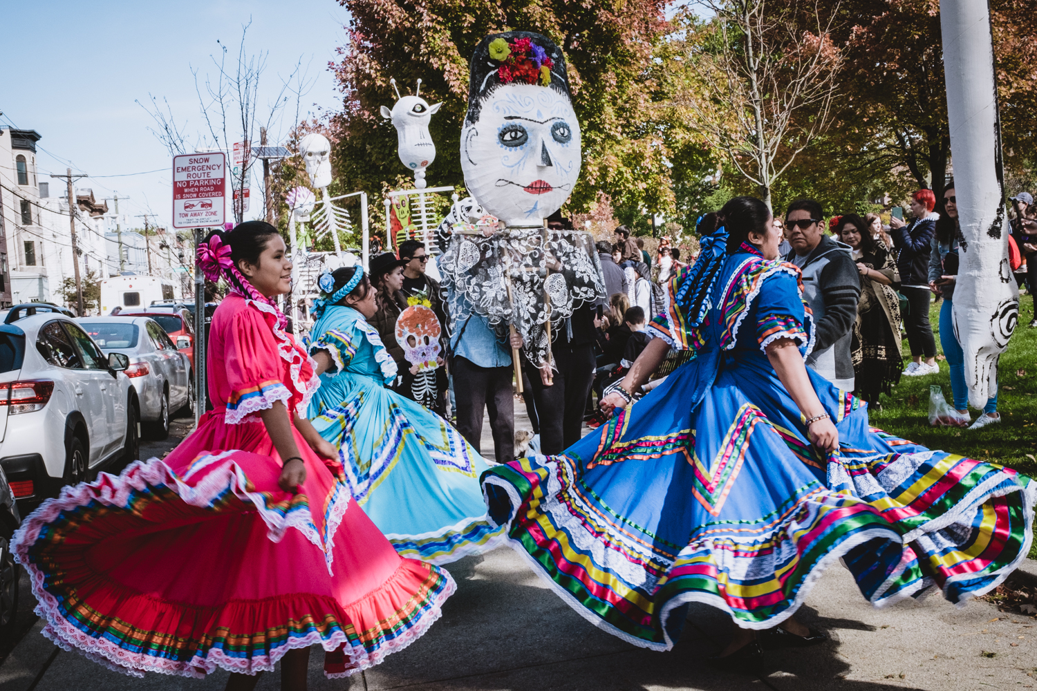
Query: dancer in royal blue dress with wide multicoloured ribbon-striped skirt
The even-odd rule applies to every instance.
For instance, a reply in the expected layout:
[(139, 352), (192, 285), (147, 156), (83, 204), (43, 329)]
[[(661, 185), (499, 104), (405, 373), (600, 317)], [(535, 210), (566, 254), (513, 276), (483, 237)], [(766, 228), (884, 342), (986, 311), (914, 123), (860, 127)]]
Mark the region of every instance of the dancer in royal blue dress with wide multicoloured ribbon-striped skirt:
[[(720, 215), (670, 281), (660, 338), (602, 401), (617, 414), (559, 456), (483, 473), (512, 547), (637, 645), (669, 650), (685, 603), (727, 611), (728, 666), (759, 661), (754, 630), (805, 633), (789, 617), (840, 557), (875, 605), (1002, 582), (1029, 551), (1037, 485), (870, 428), (866, 404), (804, 366), (810, 312), (767, 207), (741, 197)], [(671, 347), (696, 356), (629, 405)]]

